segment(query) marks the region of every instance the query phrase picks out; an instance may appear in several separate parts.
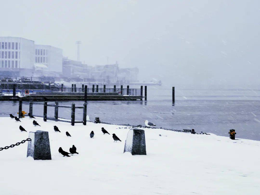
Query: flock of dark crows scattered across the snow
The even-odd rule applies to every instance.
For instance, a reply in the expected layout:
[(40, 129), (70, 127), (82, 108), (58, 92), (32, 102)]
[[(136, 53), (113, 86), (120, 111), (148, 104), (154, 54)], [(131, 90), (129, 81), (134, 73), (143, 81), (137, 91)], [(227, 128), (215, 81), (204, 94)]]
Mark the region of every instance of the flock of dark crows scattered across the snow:
[[(15, 120), (16, 120), (15, 122), (21, 122), (20, 119), (17, 118), (16, 116), (14, 116), (14, 115), (12, 115), (12, 114), (9, 114), (9, 115), (10, 115), (10, 118), (11, 118), (11, 119), (15, 119)], [(28, 116), (30, 117), (30, 119), (35, 119), (35, 117), (34, 117), (33, 115), (31, 115), (30, 113), (28, 113)], [(35, 120), (33, 121), (33, 125), (34, 125), (34, 126), (41, 126), (41, 125), (39, 125)], [(53, 126), (53, 127), (54, 127), (54, 131), (55, 131), (55, 132), (60, 132), (59, 128), (58, 128), (56, 125)], [(23, 131), (27, 132), (21, 125), (20, 125), (19, 129), (20, 129), (21, 132), (23, 132)], [(103, 135), (105, 135), (106, 133), (109, 134), (109, 133), (107, 132), (107, 130), (104, 129), (104, 127), (101, 128), (101, 131), (102, 131)], [(60, 132), (60, 133), (61, 133), (61, 132)], [(70, 135), (69, 132), (67, 132), (67, 131), (66, 131), (66, 135), (67, 135), (67, 137), (71, 137), (71, 135)], [(110, 134), (109, 134), (109, 135), (110, 135)], [(118, 136), (116, 136), (114, 133), (113, 133), (112, 135), (113, 135), (112, 137), (113, 137), (113, 139), (114, 139), (114, 142), (121, 141), (121, 140), (118, 138)], [(94, 131), (91, 131), (91, 133), (90, 133), (90, 138), (94, 138)], [(70, 152), (70, 153), (68, 153), (68, 152), (63, 151), (63, 149), (60, 147), (60, 148), (59, 148), (59, 153), (61, 153), (61, 154), (63, 155), (63, 157), (65, 157), (65, 156), (70, 157), (69, 154), (71, 154), (71, 155), (73, 155), (73, 154), (79, 154), (78, 152), (76, 152), (76, 149), (77, 149), (77, 148), (76, 148), (74, 145), (72, 145), (72, 147), (69, 148), (69, 152)]]

